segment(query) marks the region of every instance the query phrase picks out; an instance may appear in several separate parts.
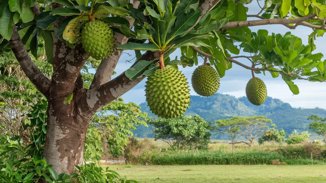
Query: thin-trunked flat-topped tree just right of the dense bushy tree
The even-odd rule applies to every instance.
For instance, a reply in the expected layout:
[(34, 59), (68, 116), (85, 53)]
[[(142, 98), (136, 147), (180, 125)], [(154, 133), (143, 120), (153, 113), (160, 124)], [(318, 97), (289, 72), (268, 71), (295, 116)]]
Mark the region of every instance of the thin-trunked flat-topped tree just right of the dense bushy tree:
[(220, 119), (215, 121), (216, 125), (213, 125), (212, 131), (218, 133), (228, 134), (232, 140), (232, 153), (234, 150), (235, 138), (239, 136), (244, 130), (244, 126), (249, 124), (249, 120), (245, 117), (233, 117), (230, 119)]

